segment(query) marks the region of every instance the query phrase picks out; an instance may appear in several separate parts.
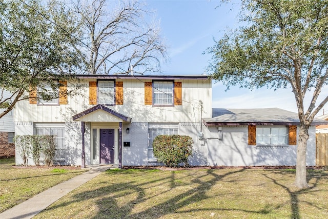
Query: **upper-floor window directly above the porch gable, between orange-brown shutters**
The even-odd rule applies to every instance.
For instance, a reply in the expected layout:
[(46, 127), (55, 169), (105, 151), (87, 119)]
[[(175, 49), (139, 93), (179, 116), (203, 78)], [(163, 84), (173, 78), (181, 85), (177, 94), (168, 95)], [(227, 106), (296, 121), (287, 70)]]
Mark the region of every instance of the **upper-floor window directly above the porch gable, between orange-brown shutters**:
[(98, 104), (115, 104), (114, 81), (98, 81)]

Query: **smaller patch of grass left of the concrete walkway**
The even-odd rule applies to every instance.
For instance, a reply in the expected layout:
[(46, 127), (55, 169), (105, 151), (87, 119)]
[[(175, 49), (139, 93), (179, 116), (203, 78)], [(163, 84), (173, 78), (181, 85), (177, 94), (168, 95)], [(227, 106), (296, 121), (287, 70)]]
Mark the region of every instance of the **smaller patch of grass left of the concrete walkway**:
[(0, 212), (72, 178), (83, 170), (15, 168), (14, 158), (0, 159)]

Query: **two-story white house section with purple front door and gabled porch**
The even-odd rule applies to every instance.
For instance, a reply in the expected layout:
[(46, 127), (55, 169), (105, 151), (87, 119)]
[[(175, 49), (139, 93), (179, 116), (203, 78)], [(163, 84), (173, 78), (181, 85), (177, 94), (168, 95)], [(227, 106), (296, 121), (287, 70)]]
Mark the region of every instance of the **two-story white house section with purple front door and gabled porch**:
[[(158, 165), (152, 149), (155, 136), (193, 135), (200, 116), (212, 116), (212, 83), (206, 75), (77, 78), (59, 82), (60, 93), (78, 84), (77, 95), (51, 101), (30, 98), (15, 107), (16, 134), (56, 135), (60, 164)], [(37, 88), (30, 95), (35, 97)], [(16, 164), (22, 163), (16, 155)]]

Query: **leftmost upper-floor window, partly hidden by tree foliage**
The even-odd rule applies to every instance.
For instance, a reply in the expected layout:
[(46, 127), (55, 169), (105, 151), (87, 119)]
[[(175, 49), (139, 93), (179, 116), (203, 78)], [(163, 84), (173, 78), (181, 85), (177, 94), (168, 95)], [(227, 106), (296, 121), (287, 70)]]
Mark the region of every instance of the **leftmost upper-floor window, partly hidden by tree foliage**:
[[(57, 81), (53, 83), (56, 84)], [(53, 88), (50, 83), (41, 83), (37, 87), (37, 94), (39, 96), (39, 105), (59, 105), (58, 89)]]

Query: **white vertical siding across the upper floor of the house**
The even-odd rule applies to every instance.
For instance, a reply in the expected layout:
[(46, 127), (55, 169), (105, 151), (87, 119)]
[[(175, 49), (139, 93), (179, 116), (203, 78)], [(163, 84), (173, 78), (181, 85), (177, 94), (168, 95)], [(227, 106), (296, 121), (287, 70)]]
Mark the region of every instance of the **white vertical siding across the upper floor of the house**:
[[(95, 81), (95, 80), (93, 80)], [(145, 85), (137, 79), (123, 81), (124, 104), (107, 106), (131, 117), (134, 122), (172, 123), (196, 122), (200, 120), (199, 100), (203, 103), (202, 117), (212, 116), (211, 82), (201, 80), (176, 80), (182, 82), (182, 105), (174, 107), (153, 107), (145, 105)], [(151, 82), (151, 80), (148, 80)], [(71, 122), (72, 116), (94, 105), (89, 105), (89, 81), (80, 82), (82, 88), (77, 94), (68, 96), (68, 104), (60, 106), (38, 106), (21, 101), (16, 105), (16, 122)], [(75, 85), (68, 83), (68, 91)]]

